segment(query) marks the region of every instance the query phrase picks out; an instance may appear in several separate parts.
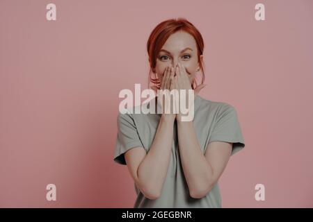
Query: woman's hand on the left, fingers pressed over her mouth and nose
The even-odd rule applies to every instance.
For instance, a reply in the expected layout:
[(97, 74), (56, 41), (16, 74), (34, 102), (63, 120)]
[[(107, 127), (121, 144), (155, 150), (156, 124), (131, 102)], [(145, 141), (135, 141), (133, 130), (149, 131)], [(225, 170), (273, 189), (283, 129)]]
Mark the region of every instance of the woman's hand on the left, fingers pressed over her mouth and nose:
[[(171, 111), (171, 104), (172, 107), (175, 107), (175, 99), (170, 99), (170, 91), (174, 89), (174, 76), (175, 76), (175, 69), (172, 67), (172, 65), (166, 67), (166, 70), (163, 73), (163, 77), (161, 80), (161, 87), (160, 89), (168, 89), (164, 90), (158, 90), (157, 91), (157, 97), (158, 97), (158, 103), (161, 105), (162, 108), (162, 114), (161, 119), (164, 121), (170, 121), (174, 122), (176, 118), (176, 114)], [(172, 84), (171, 84), (172, 83)], [(172, 101), (172, 103), (171, 103)], [(174, 111), (174, 110), (173, 110)]]

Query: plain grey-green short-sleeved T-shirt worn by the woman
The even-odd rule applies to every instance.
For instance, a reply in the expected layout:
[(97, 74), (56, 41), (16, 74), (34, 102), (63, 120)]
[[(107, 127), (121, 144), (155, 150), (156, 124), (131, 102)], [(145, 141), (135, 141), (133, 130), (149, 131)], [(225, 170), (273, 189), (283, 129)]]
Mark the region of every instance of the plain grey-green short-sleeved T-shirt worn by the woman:
[[(153, 99), (156, 102), (156, 98)], [(159, 103), (157, 103), (159, 106)], [(149, 106), (148, 106), (149, 107)], [(205, 153), (210, 142), (232, 142), (232, 155), (240, 151), (244, 146), (243, 135), (237, 117), (236, 110), (230, 104), (209, 101), (199, 95), (194, 100), (193, 126), (200, 148)], [(161, 114), (118, 114), (118, 135), (116, 138), (114, 161), (126, 164), (124, 153), (136, 146), (142, 146), (146, 152), (152, 145), (154, 135)], [(188, 186), (184, 177), (182, 163), (179, 157), (177, 138), (177, 123), (174, 123), (174, 139), (172, 143), (172, 155), (166, 179), (163, 183), (161, 196), (151, 200), (143, 196), (134, 185), (137, 198), (134, 208), (137, 207), (222, 207), (218, 182), (203, 198), (192, 198), (189, 195)]]

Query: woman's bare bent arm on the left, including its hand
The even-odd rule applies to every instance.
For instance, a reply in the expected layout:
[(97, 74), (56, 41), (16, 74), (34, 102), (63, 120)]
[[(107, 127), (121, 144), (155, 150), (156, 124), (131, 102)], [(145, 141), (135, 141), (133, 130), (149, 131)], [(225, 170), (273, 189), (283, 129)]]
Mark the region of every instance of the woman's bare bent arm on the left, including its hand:
[[(173, 76), (174, 69), (166, 71), (162, 78), (162, 89), (170, 89)], [(172, 152), (174, 121), (175, 114), (163, 112), (149, 152), (145, 154), (145, 150), (138, 147), (125, 153), (125, 161), (138, 189), (150, 199), (160, 196), (166, 178)]]

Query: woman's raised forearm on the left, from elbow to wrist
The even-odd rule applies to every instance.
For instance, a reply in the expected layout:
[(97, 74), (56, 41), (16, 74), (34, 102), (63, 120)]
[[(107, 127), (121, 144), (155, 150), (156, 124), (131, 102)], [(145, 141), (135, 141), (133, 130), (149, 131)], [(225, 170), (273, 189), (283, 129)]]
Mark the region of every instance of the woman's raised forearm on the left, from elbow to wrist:
[(174, 121), (159, 121), (157, 132), (143, 161), (138, 167), (138, 180), (152, 196), (159, 196), (166, 178), (172, 152)]

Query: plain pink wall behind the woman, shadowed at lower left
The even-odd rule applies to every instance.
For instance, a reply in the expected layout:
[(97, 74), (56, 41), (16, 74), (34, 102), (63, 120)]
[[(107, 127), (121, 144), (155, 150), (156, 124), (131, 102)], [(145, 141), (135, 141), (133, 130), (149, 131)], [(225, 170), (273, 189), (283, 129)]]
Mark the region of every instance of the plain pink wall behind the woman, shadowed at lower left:
[(133, 207), (113, 162), (118, 93), (147, 87), (147, 38), (174, 17), (204, 37), (200, 95), (234, 105), (246, 141), (220, 178), (223, 207), (313, 207), (310, 0), (1, 0), (0, 207)]

